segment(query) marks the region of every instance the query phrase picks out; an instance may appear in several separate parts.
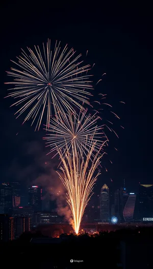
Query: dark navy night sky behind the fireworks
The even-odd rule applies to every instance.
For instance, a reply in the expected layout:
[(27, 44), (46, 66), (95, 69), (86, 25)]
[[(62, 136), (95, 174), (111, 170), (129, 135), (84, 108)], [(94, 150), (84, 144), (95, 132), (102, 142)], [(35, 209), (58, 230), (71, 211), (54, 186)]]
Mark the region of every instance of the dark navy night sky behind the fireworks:
[(108, 172), (101, 171), (97, 193), (104, 183), (119, 187), (124, 178), (130, 191), (136, 191), (139, 182), (153, 183), (153, 44), (149, 7), (55, 7), (44, 2), (39, 7), (26, 3), (6, 3), (1, 7), (1, 181), (19, 179), (28, 184), (46, 173), (45, 158), (51, 161), (45, 157), (44, 132), (35, 133), (30, 121), (21, 126), (23, 117), (15, 119), (15, 108), (9, 108), (13, 99), (4, 99), (4, 82), (8, 81), (5, 71), (12, 66), (10, 59), (20, 54), (20, 48), (41, 46), (50, 38), (53, 43), (61, 40), (63, 46), (68, 44), (82, 53), (87, 63), (95, 63), (94, 84), (106, 73), (94, 90), (95, 99), (98, 93), (108, 94), (121, 118), (115, 127), (119, 140), (111, 137), (109, 157), (102, 161)]

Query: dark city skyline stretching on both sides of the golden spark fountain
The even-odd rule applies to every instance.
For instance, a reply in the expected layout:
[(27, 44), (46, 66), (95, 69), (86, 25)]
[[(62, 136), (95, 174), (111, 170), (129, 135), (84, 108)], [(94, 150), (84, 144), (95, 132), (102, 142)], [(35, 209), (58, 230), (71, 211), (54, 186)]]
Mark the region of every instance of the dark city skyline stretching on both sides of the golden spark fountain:
[[(143, 218), (152, 218), (152, 186), (153, 184), (139, 184), (139, 192), (134, 193), (131, 192), (131, 189), (128, 190), (126, 188), (125, 181), (123, 181), (123, 187), (116, 190), (113, 190), (111, 187), (109, 188), (104, 184), (101, 187), (101, 191), (98, 194), (93, 193), (89, 200), (83, 221), (90, 223), (100, 220), (102, 221), (103, 219), (103, 222), (111, 222), (112, 217), (117, 217), (118, 223), (128, 223), (133, 221), (143, 222)], [(17, 194), (17, 191), (19, 199), (17, 199), (17, 205), (14, 206), (14, 194), (15, 192)], [(106, 191), (107, 199), (105, 197)], [(63, 195), (65, 196), (64, 193)], [(64, 196), (63, 199), (65, 199)], [(103, 204), (103, 196), (105, 201), (108, 201), (106, 205)], [(58, 208), (58, 200), (56, 199), (55, 194), (49, 194), (49, 192), (44, 191), (42, 187), (38, 185), (29, 186), (27, 192), (24, 190), (24, 198), (27, 200), (27, 203), (23, 202), (22, 197), (23, 189), (20, 182), (2, 183), (0, 185), (0, 214), (8, 214), (10, 217), (21, 217), (26, 216), (27, 214), (32, 215), (37, 212), (50, 212), (49, 214), (51, 215), (52, 213), (55, 214), (55, 212), (57, 212), (57, 215), (59, 216), (61, 214), (59, 214), (60, 208)], [(21, 201), (21, 203), (18, 204), (18, 201)], [(66, 208), (66, 203), (64, 207)], [(101, 214), (105, 215), (105, 211), (108, 212), (107, 220), (101, 217)], [(63, 220), (65, 219), (65, 221), (68, 221), (66, 220), (64, 213), (61, 216)]]

